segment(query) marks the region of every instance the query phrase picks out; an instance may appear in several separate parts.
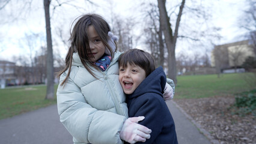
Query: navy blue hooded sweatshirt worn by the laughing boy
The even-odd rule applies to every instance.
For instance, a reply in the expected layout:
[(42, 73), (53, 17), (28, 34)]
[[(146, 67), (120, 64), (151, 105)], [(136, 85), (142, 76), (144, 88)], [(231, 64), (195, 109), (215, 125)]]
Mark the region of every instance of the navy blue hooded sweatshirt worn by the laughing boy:
[(126, 95), (129, 117), (145, 116), (139, 124), (152, 130), (150, 139), (137, 143), (178, 143), (174, 121), (163, 100), (166, 76), (162, 67), (156, 68), (135, 89)]

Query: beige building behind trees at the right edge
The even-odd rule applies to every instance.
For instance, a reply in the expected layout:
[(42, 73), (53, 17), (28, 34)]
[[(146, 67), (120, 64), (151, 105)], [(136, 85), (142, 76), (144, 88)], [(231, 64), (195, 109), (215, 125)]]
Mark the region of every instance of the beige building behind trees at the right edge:
[(249, 40), (215, 46), (211, 55), (211, 65), (219, 70), (237, 69), (248, 56), (255, 57)]

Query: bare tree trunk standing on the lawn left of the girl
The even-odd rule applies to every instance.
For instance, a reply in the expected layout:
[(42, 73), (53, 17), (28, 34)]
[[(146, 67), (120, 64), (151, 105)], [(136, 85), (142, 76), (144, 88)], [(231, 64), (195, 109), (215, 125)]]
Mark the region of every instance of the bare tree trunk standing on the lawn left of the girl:
[(50, 0), (44, 0), (44, 14), (46, 22), (47, 38), (47, 93), (45, 99), (54, 99), (54, 74), (53, 74), (53, 54), (52, 54), (52, 34), (50, 32)]

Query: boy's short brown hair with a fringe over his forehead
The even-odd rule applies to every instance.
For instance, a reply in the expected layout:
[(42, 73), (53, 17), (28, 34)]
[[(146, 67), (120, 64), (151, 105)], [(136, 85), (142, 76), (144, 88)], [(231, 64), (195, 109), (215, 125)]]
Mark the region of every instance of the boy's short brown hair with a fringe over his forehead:
[(156, 68), (154, 67), (154, 59), (150, 53), (140, 49), (130, 49), (122, 53), (118, 58), (119, 67), (127, 67), (127, 64), (138, 65), (145, 73), (146, 77)]

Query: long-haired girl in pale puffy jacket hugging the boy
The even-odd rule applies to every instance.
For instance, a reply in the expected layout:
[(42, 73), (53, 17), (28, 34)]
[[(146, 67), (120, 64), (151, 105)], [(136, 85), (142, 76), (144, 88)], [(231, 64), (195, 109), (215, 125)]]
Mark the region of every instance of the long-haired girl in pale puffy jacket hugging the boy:
[(57, 104), (59, 119), (74, 143), (135, 143), (150, 138), (151, 130), (137, 124), (144, 116), (128, 118), (118, 81), (121, 53), (116, 52), (117, 37), (110, 31), (101, 16), (85, 14), (71, 32), (66, 67), (58, 73)]

